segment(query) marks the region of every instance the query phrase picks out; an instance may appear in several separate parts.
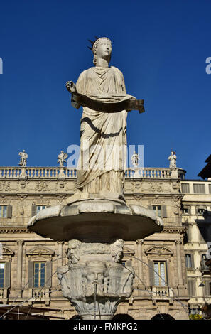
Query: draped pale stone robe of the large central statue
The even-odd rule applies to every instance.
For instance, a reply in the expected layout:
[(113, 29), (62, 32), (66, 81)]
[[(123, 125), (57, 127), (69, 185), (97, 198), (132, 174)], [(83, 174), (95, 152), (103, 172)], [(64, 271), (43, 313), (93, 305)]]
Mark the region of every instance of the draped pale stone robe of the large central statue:
[[(80, 74), (77, 92), (93, 100), (114, 103), (130, 99), (118, 68), (93, 67)], [(126, 111), (99, 112), (83, 107), (77, 188), (82, 193), (123, 193)]]

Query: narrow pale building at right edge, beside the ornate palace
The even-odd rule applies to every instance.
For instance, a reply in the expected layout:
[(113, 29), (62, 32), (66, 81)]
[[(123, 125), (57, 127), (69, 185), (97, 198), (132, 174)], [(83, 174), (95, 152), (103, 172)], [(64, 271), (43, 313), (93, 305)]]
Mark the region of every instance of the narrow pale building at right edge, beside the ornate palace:
[(198, 307), (211, 303), (210, 270), (202, 259), (211, 242), (211, 181), (184, 180), (181, 190), (185, 190), (182, 221), (187, 235), (184, 248), (186, 256), (191, 256), (191, 266), (187, 268), (189, 305), (194, 313)]

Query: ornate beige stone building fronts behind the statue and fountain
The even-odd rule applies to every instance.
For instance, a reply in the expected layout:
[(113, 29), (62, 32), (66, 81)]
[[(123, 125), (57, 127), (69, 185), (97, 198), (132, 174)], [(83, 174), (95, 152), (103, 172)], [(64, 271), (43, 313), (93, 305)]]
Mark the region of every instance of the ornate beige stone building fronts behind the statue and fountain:
[[(58, 285), (56, 269), (67, 263), (67, 242), (30, 232), (28, 220), (39, 210), (65, 204), (75, 193), (75, 170), (57, 167), (0, 168), (0, 306), (45, 308), (53, 319), (76, 315)], [(211, 180), (185, 180), (176, 168), (126, 171), (127, 204), (151, 208), (164, 228), (136, 242), (125, 242), (124, 265), (135, 269), (134, 292), (116, 314), (134, 319), (188, 319), (211, 303)], [(157, 274), (158, 273), (158, 274)], [(58, 311), (59, 310), (59, 311)], [(1, 315), (0, 315), (1, 316)]]

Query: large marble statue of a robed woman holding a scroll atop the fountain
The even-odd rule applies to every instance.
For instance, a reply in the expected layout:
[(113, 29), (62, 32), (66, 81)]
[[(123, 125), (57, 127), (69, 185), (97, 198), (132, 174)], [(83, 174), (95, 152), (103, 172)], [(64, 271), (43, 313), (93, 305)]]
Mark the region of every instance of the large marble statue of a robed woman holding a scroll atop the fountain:
[(77, 166), (77, 193), (72, 200), (85, 198), (123, 199), (126, 157), (126, 115), (131, 109), (144, 112), (143, 100), (126, 94), (124, 77), (109, 66), (112, 42), (92, 42), (94, 67), (80, 74), (76, 85), (69, 81), (72, 105), (83, 107), (80, 127), (80, 157)]

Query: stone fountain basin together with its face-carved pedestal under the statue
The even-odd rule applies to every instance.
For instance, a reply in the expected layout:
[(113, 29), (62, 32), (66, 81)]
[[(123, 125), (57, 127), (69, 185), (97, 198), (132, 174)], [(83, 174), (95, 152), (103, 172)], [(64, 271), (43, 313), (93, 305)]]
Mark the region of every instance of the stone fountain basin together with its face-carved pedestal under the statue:
[(28, 229), (68, 241), (68, 263), (57, 270), (63, 296), (82, 319), (109, 320), (132, 293), (134, 269), (121, 264), (123, 239), (161, 232), (163, 222), (153, 210), (98, 198), (41, 210)]

